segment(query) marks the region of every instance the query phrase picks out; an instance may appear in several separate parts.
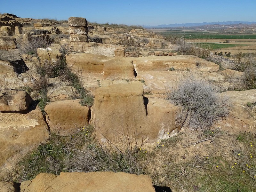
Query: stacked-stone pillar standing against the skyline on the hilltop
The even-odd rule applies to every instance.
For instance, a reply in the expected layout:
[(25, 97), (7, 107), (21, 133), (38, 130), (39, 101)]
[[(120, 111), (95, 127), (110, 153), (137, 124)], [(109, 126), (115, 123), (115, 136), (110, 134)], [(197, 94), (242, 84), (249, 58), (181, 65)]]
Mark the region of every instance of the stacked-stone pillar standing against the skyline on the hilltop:
[(82, 17), (70, 17), (68, 18), (71, 42), (88, 42), (88, 27), (87, 20)]

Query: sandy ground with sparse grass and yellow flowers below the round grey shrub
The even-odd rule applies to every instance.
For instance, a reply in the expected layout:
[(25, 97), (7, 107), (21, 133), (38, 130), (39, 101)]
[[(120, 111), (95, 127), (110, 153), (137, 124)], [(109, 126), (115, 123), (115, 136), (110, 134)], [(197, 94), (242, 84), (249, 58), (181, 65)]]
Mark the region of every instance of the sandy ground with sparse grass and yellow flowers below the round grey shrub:
[[(148, 155), (148, 174), (155, 185), (168, 186), (173, 192), (254, 191), (255, 134), (242, 135), (243, 142), (239, 134), (216, 129), (161, 140)], [(238, 146), (243, 158), (234, 153)]]

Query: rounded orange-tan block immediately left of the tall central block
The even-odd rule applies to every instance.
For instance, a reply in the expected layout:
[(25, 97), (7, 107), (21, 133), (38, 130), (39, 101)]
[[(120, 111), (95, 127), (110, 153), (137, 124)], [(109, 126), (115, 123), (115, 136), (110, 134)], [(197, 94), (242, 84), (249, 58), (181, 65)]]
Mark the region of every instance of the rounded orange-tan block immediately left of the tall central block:
[(45, 106), (50, 130), (61, 135), (77, 131), (89, 123), (89, 108), (81, 106), (79, 100), (55, 101)]

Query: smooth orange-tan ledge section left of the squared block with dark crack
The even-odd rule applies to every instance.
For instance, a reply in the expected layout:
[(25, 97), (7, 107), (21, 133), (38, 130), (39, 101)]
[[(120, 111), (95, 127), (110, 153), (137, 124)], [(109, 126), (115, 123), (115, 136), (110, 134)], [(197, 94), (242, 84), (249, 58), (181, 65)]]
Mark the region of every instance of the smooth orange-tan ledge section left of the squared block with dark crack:
[(91, 73), (103, 73), (104, 62), (111, 58), (104, 55), (95, 55), (88, 53), (71, 53), (66, 56), (69, 66), (74, 70)]

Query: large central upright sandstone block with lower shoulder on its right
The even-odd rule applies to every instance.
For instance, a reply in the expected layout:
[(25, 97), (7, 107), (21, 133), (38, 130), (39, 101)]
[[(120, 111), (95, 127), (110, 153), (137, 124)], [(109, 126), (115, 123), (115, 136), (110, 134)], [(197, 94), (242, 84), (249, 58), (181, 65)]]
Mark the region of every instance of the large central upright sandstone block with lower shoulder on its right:
[(140, 82), (110, 84), (95, 91), (90, 122), (102, 143), (122, 143), (127, 139), (155, 142), (178, 132), (179, 127), (174, 125), (177, 111), (166, 100), (143, 97)]

